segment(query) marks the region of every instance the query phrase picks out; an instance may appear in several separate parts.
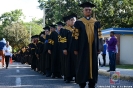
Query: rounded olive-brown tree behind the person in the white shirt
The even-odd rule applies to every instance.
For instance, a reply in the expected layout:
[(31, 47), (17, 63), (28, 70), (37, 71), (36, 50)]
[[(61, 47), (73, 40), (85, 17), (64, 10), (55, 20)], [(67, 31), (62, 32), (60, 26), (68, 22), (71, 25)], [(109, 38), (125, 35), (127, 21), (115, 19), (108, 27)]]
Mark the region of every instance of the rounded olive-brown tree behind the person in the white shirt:
[(14, 49), (18, 50), (29, 44), (29, 33), (22, 23), (17, 22), (6, 26), (2, 34)]

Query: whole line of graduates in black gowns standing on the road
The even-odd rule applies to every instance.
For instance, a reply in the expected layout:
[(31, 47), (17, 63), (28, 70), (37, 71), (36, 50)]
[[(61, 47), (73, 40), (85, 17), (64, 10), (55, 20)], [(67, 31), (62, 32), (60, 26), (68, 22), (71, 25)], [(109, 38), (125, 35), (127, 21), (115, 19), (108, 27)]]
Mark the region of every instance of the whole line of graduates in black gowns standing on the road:
[(89, 82), (89, 88), (95, 88), (97, 55), (102, 49), (100, 22), (91, 17), (94, 4), (85, 2), (79, 6), (83, 7), (83, 18), (76, 20), (76, 14), (68, 14), (63, 17), (65, 26), (57, 22), (44, 27), (40, 35), (32, 36), (29, 63), (31, 69), (46, 77), (63, 77), (66, 83), (75, 81), (80, 88)]

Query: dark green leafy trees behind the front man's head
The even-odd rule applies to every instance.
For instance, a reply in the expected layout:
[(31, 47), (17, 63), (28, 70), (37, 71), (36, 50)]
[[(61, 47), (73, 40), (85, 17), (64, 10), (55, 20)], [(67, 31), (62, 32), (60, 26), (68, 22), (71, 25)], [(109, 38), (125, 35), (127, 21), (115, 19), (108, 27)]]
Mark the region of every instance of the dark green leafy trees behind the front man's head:
[[(67, 13), (77, 13), (82, 17), (81, 8), (78, 4), (88, 0), (38, 0), (40, 9), (45, 6), (46, 24), (51, 24), (62, 20)], [(110, 27), (132, 27), (133, 25), (133, 0), (89, 0), (96, 7), (93, 9), (93, 15), (102, 24), (102, 28)]]

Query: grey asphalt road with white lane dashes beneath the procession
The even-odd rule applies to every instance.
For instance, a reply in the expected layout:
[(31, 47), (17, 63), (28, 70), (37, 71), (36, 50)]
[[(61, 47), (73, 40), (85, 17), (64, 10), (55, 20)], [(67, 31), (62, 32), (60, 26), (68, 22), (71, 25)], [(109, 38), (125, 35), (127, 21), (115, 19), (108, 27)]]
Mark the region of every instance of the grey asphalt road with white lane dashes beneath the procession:
[[(0, 88), (79, 88), (79, 86), (74, 82), (67, 84), (63, 79), (46, 77), (31, 70), (27, 64), (14, 62), (8, 69), (1, 68), (0, 63)], [(108, 76), (98, 75), (96, 88), (133, 88), (133, 82), (120, 80), (120, 83), (111, 84)]]

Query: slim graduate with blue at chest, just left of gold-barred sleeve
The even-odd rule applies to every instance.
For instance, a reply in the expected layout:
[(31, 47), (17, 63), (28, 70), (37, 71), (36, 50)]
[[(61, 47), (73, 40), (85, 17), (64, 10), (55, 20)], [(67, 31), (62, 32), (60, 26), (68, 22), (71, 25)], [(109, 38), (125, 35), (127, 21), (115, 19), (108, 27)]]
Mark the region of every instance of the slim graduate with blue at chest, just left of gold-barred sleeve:
[(48, 40), (50, 37), (50, 27), (46, 26), (43, 28), (45, 30), (45, 42), (44, 42), (44, 50), (43, 50), (43, 56), (45, 58), (44, 64), (45, 68), (44, 70), (46, 71), (46, 77), (51, 77), (51, 55), (48, 53)]

